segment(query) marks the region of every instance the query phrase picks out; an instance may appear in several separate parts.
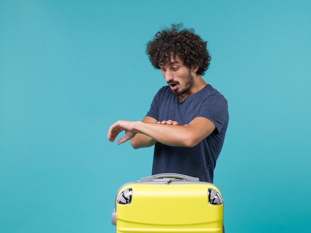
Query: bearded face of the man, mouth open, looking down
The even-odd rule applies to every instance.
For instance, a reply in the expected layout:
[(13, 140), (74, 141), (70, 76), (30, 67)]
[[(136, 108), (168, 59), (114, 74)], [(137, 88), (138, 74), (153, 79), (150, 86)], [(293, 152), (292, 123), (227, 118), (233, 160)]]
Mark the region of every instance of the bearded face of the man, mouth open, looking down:
[(180, 96), (189, 92), (194, 77), (191, 69), (180, 58), (171, 58), (165, 65), (160, 65), (160, 69), (173, 95)]

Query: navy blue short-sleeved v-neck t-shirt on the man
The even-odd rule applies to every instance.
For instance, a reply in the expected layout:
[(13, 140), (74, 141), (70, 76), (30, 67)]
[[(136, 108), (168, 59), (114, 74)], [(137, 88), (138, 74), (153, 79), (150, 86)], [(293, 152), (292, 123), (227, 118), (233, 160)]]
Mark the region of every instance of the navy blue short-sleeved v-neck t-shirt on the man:
[(195, 117), (205, 117), (215, 124), (214, 132), (192, 148), (156, 142), (152, 169), (153, 175), (179, 173), (213, 183), (216, 160), (229, 121), (225, 97), (208, 84), (180, 103), (179, 98), (171, 94), (169, 86), (164, 86), (156, 93), (147, 116), (158, 121), (176, 120), (180, 125), (189, 124)]

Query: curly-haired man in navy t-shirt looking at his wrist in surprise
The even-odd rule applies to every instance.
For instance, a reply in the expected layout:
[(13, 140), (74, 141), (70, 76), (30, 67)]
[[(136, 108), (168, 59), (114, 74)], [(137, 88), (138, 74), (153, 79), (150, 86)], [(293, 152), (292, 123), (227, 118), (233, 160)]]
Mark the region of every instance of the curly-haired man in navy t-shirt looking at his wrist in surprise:
[(156, 93), (142, 121), (117, 121), (108, 139), (113, 142), (124, 130), (118, 144), (131, 140), (134, 149), (155, 145), (153, 175), (179, 173), (212, 183), (228, 126), (228, 104), (201, 77), (211, 60), (207, 42), (181, 27), (157, 32), (147, 44), (146, 53), (168, 86)]

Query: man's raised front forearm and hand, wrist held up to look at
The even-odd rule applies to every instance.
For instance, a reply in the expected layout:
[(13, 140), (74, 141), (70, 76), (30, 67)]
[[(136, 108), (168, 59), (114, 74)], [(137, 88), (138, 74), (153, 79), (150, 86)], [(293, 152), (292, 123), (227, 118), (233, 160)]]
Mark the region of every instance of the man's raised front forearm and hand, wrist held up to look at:
[(117, 135), (125, 130), (125, 136), (119, 139), (118, 144), (141, 133), (168, 146), (193, 147), (210, 135), (214, 129), (215, 124), (204, 117), (196, 117), (188, 125), (119, 120), (110, 126), (108, 139), (114, 141)]

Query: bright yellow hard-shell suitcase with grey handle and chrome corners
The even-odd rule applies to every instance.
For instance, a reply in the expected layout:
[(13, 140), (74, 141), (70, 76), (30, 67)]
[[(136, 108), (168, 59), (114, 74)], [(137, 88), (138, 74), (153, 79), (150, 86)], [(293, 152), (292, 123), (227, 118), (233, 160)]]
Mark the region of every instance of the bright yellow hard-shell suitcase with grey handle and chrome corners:
[(158, 174), (122, 185), (111, 222), (116, 233), (224, 233), (224, 203), (212, 183)]

